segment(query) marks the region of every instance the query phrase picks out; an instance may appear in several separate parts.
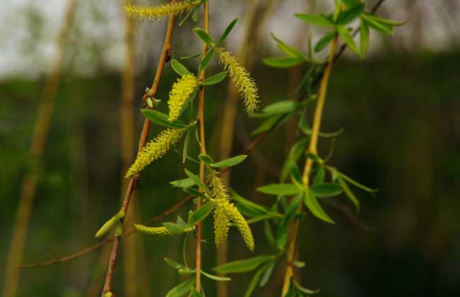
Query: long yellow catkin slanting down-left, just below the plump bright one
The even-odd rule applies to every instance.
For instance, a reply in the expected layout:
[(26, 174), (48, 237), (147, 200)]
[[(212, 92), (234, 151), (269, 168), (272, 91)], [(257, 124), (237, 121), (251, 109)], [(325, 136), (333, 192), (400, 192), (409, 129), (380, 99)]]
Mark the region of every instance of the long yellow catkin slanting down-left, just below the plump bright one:
[(153, 161), (161, 158), (169, 149), (178, 142), (186, 129), (166, 129), (163, 130), (154, 140), (142, 148), (142, 151), (137, 153), (136, 161), (131, 165), (125, 177), (132, 177)]

